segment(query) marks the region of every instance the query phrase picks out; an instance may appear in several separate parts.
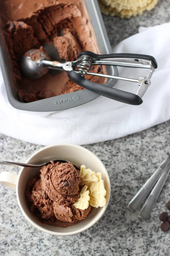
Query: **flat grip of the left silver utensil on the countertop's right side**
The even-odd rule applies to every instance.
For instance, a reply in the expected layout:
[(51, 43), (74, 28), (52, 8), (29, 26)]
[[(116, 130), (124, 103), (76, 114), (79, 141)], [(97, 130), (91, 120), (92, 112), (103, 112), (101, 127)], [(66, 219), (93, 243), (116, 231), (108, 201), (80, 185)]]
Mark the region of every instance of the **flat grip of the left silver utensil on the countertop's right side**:
[(151, 188), (155, 185), (159, 176), (163, 170), (159, 167), (155, 173), (147, 180), (147, 182), (142, 186), (142, 188), (137, 192), (137, 194), (132, 198), (130, 203), (127, 205), (127, 208), (132, 212), (136, 211), (138, 207), (142, 204), (142, 201), (145, 199)]

